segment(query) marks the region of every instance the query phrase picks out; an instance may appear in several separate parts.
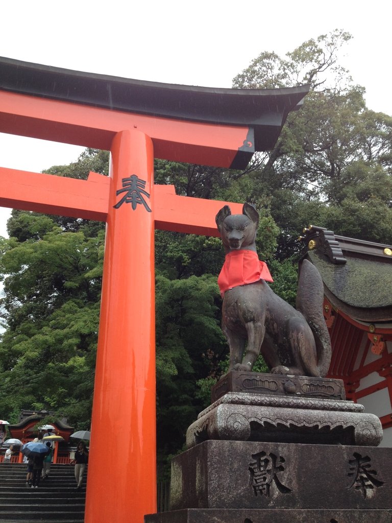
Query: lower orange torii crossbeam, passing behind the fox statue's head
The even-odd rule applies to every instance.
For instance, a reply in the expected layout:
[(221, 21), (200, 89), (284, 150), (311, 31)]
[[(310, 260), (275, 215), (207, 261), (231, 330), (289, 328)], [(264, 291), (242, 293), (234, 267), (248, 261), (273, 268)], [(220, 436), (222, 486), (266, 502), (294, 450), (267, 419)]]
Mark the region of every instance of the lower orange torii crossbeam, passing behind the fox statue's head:
[[(0, 167), (0, 206), (86, 220), (106, 221), (111, 178), (90, 172), (87, 180)], [(214, 221), (228, 205), (242, 204), (176, 195), (174, 185), (154, 185), (155, 229), (218, 236)]]

